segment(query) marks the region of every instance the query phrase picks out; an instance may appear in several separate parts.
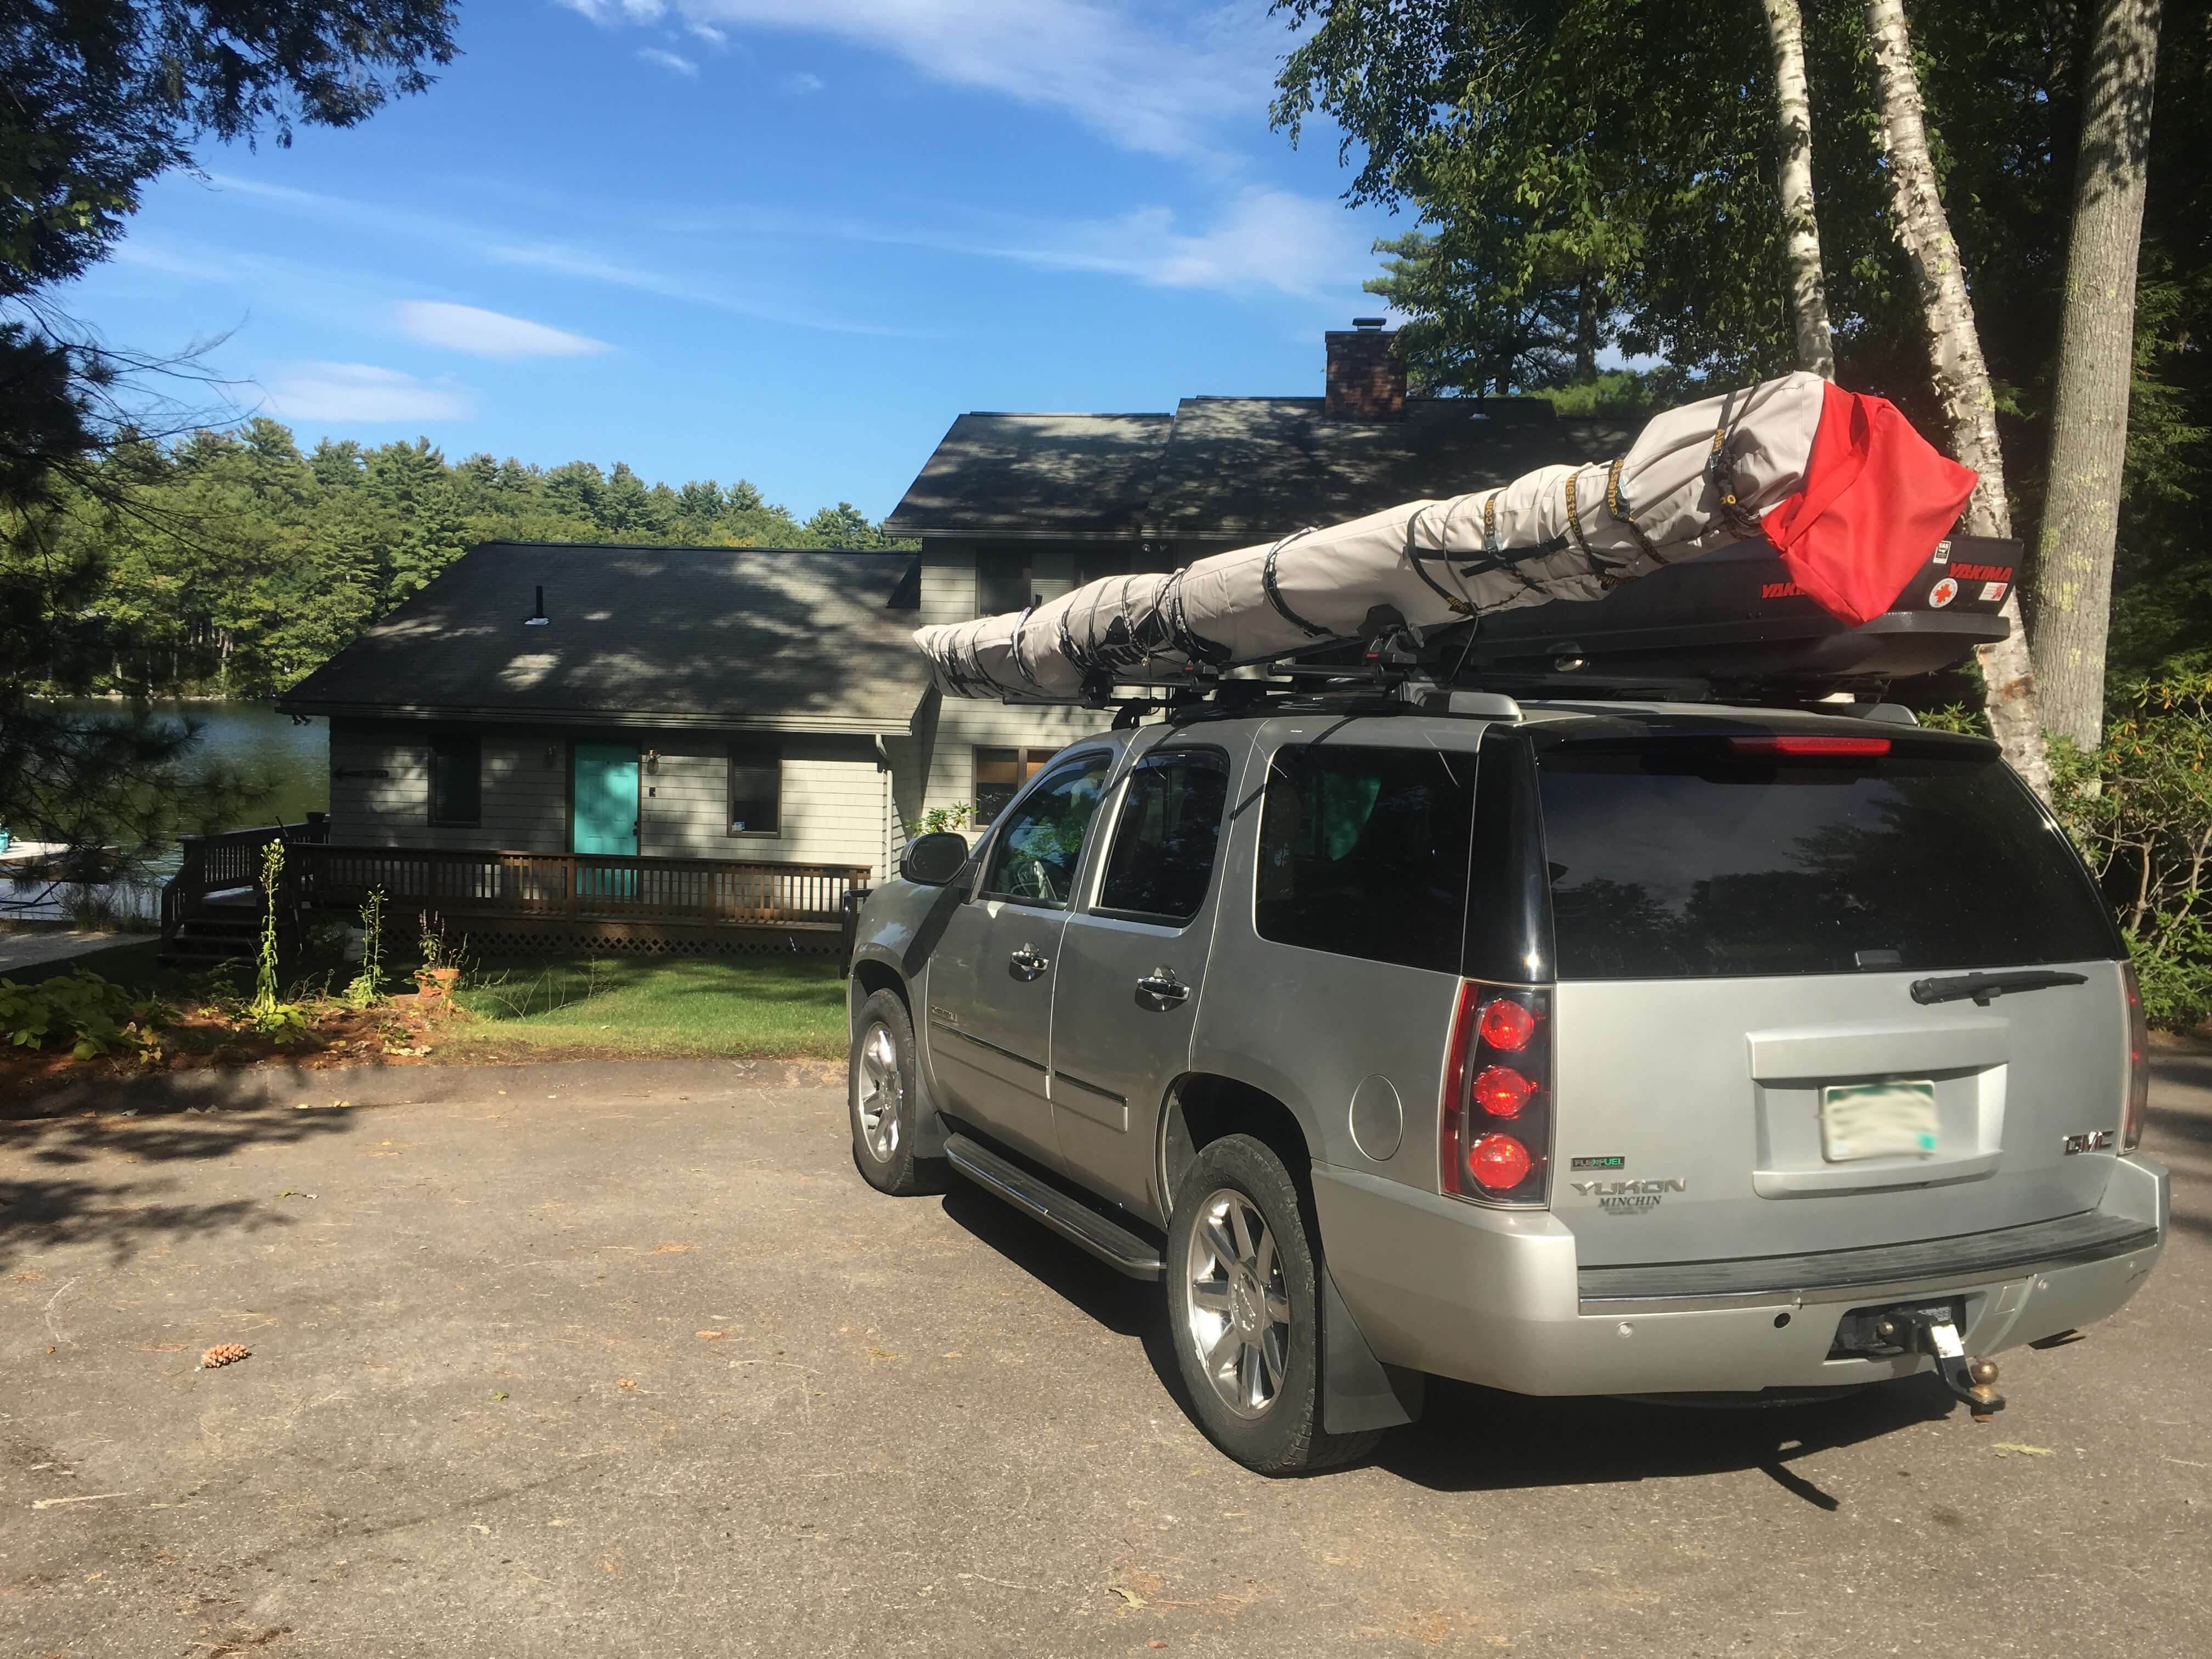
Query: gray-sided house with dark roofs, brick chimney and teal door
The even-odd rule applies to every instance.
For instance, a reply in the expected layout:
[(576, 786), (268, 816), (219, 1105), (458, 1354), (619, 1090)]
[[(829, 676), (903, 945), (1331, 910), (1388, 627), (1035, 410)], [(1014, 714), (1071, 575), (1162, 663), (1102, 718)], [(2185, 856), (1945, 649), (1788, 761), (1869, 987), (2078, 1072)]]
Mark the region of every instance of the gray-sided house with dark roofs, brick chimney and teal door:
[[(1389, 334), (1356, 327), (1327, 334), (1323, 396), (960, 416), (887, 520), (920, 538), (918, 557), (493, 542), (279, 703), (330, 719), (334, 852), (310, 860), (471, 854), (414, 878), (456, 880), (487, 911), (529, 911), (551, 880), (564, 916), (591, 909), (593, 880), (604, 911), (635, 914), (650, 889), (679, 916), (661, 867), (681, 860), (701, 878), (728, 867), (723, 889), (739, 865), (865, 883), (907, 821), (967, 805), (984, 825), (1106, 721), (942, 701), (914, 626), (1597, 460), (1628, 438), (1535, 398), (1409, 398)], [(557, 880), (549, 858), (571, 860)], [(349, 869), (332, 891), (369, 880)]]

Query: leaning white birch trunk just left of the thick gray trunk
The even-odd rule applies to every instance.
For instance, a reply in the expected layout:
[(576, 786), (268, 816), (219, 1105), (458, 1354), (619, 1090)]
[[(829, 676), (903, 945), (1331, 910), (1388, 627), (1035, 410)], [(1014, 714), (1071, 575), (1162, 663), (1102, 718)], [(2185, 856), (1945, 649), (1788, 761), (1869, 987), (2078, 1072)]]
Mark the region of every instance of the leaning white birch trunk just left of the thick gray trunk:
[[(1966, 533), (2011, 538), (2013, 511), (2004, 500), (2004, 456), (1997, 449), (1997, 396), (1989, 387), (1989, 363), (1982, 358), (1982, 334), (1973, 323), (1973, 301), (1966, 296), (1966, 272), (1960, 270), (1951, 215), (1944, 212), (1936, 164), (1929, 159), (1920, 75), (1913, 71), (1902, 0), (1867, 0), (1867, 38), (1874, 46), (1874, 80), (1882, 102), (1882, 150), (1889, 157), (1889, 210), (1896, 221), (1891, 230), (1920, 290), (1936, 403), (1942, 409), (1951, 453), (1980, 473), (1966, 500)], [(2013, 626), (2011, 635), (1975, 653), (1982, 659), (1989, 730), (2013, 770), (2048, 801), (2051, 757), (2044, 752), (2035, 666), (2020, 619), (2017, 584), (2004, 595), (2002, 615)]]

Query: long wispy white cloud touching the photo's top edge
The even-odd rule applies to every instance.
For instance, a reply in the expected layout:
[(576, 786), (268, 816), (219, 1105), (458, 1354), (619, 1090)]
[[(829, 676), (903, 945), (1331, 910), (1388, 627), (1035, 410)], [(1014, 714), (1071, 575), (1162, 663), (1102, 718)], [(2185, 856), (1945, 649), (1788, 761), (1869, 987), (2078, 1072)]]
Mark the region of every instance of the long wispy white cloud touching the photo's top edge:
[[(1265, 0), (560, 0), (604, 29), (657, 22), (832, 35), (922, 75), (1073, 115), (1113, 144), (1206, 155), (1265, 108), (1290, 31)], [(648, 9), (650, 7), (650, 9)]]

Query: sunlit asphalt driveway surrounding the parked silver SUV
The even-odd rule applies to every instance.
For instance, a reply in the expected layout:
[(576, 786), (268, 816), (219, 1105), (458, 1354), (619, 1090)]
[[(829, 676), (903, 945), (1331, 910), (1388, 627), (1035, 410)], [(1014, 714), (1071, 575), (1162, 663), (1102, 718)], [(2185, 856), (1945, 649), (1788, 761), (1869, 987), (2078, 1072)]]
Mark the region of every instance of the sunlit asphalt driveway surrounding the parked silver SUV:
[(1190, 1427), (1157, 1290), (878, 1197), (832, 1088), (0, 1124), (0, 1652), (2212, 1652), (2212, 1055), (2159, 1073), (2166, 1259), (1986, 1427), (1438, 1385), (1292, 1482)]

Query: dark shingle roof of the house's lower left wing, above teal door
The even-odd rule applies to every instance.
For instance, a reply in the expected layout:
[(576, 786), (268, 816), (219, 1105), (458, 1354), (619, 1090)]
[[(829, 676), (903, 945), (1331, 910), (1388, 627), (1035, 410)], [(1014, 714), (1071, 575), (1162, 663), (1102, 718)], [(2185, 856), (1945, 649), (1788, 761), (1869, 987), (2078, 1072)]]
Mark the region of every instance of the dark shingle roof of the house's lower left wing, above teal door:
[[(484, 542), (292, 688), (301, 714), (902, 732), (911, 553)], [(524, 626), (544, 586), (551, 622)]]

